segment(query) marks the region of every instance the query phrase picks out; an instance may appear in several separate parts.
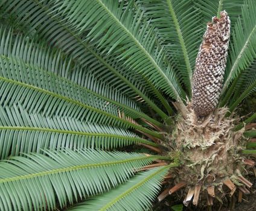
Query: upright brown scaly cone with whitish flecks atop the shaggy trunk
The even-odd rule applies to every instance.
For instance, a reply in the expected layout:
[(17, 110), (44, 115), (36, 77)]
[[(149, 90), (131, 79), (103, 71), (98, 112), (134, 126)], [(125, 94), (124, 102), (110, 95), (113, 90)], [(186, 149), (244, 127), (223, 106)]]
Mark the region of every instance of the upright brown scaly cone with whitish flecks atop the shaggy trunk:
[(196, 58), (192, 102), (197, 116), (206, 116), (216, 108), (222, 90), (229, 37), (230, 20), (228, 13), (222, 11), (220, 18), (213, 17), (213, 22), (207, 24)]

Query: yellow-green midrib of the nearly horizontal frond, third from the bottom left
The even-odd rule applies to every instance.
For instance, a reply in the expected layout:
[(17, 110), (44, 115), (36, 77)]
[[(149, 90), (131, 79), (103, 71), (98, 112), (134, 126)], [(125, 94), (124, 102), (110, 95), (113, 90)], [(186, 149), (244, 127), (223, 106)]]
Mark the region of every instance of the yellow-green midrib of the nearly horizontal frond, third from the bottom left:
[(139, 137), (121, 136), (117, 134), (88, 133), (88, 132), (71, 131), (71, 130), (57, 130), (52, 128), (18, 127), (18, 126), (0, 126), (0, 130), (44, 131), (44, 132), (52, 132), (52, 133), (75, 134), (75, 135), (82, 135), (82, 136), (117, 137), (118, 139), (133, 140), (139, 143), (146, 143), (147, 145), (158, 146), (156, 143), (150, 142), (149, 140), (146, 140), (146, 139), (141, 139)]

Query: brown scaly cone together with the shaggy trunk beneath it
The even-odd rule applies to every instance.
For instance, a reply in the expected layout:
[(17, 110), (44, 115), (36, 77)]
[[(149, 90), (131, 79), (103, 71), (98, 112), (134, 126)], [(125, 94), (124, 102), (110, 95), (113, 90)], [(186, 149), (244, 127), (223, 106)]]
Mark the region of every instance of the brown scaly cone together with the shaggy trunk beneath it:
[[(216, 199), (223, 200), (227, 192), (233, 195), (236, 189), (246, 189), (247, 180), (242, 176), (245, 158), (239, 153), (246, 144), (242, 139), (243, 131), (234, 131), (237, 119), (225, 117), (228, 109), (216, 109), (226, 66), (229, 31), (226, 11), (220, 13), (220, 18), (213, 17), (213, 23), (208, 23), (196, 60), (192, 103), (187, 106), (187, 115), (177, 119), (176, 130), (170, 137), (171, 148), (180, 152), (182, 168), (173, 173), (176, 184), (187, 184), (186, 206), (190, 200), (194, 205), (201, 200), (212, 205)], [(249, 181), (248, 184), (251, 185)]]

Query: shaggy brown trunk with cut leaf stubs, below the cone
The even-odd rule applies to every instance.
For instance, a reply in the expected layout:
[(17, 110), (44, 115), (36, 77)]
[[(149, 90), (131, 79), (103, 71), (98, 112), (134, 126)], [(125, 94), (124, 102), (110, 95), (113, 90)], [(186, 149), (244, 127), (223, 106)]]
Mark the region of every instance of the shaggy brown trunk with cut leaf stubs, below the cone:
[(225, 108), (203, 119), (197, 119), (190, 105), (187, 109), (187, 116), (179, 116), (176, 130), (168, 138), (170, 151), (175, 152), (170, 156), (179, 154), (181, 167), (171, 172), (174, 186), (159, 200), (184, 189), (185, 206), (212, 206), (214, 201), (222, 203), (223, 198), (233, 197), (236, 191), (240, 201), (252, 186), (243, 174), (255, 163), (239, 153), (246, 146), (243, 130), (233, 130), (239, 119), (226, 118)]

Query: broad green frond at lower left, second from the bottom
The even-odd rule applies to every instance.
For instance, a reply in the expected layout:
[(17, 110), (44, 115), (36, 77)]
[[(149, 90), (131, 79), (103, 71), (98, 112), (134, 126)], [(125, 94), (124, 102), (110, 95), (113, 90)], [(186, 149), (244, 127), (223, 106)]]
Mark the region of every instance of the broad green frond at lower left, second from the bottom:
[(45, 151), (0, 162), (1, 210), (53, 210), (127, 180), (161, 156), (95, 150)]

